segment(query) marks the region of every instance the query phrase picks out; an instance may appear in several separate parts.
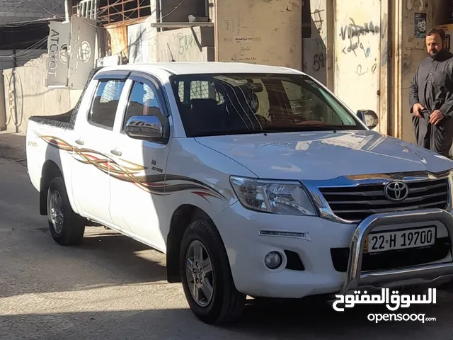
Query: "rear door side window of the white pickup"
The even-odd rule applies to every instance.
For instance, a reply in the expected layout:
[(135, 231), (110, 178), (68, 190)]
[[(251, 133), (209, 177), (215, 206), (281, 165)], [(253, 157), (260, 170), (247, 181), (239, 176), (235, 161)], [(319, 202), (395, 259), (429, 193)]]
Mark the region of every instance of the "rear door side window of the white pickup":
[(115, 123), (116, 109), (124, 86), (125, 82), (122, 80), (99, 81), (96, 96), (91, 104), (88, 121), (100, 125), (101, 128), (112, 130)]

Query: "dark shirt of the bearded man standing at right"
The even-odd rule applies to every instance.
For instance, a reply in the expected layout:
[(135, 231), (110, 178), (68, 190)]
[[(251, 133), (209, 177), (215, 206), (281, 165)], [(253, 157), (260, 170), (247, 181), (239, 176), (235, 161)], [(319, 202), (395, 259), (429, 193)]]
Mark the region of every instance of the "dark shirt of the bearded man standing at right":
[(434, 59), (426, 57), (412, 79), (409, 105), (420, 103), (429, 113), (440, 110), (446, 117), (453, 117), (453, 54), (440, 52)]

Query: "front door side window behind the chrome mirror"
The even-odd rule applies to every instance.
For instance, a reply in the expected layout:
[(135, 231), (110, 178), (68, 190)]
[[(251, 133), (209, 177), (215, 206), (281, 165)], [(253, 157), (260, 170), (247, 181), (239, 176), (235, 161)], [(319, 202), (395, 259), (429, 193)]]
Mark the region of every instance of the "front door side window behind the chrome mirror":
[(134, 81), (130, 93), (129, 102), (125, 118), (122, 120), (122, 129), (124, 131), (127, 120), (134, 115), (161, 115), (161, 108), (154, 89), (140, 81)]

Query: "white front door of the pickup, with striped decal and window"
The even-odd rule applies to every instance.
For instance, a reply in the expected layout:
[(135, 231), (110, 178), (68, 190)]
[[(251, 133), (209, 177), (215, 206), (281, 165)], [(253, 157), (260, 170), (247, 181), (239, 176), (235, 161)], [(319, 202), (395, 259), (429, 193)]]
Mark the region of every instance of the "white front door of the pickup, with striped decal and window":
[(135, 140), (124, 132), (133, 115), (163, 113), (163, 100), (151, 79), (132, 76), (127, 87), (127, 105), (115, 122), (115, 150), (110, 155), (110, 215), (124, 232), (156, 249), (164, 249), (159, 210), (165, 209), (162, 195), (168, 145)]

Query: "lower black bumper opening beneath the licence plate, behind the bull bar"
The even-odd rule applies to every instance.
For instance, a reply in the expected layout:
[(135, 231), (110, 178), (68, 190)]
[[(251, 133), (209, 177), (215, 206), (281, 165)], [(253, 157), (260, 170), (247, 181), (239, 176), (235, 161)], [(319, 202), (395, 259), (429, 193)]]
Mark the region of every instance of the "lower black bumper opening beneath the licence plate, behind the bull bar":
[[(445, 259), (451, 249), (449, 237), (440, 237), (432, 246), (413, 249), (398, 249), (362, 255), (362, 271), (382, 271), (386, 269), (419, 266), (424, 263)], [(336, 271), (348, 269), (349, 248), (332, 248), (332, 264)]]

